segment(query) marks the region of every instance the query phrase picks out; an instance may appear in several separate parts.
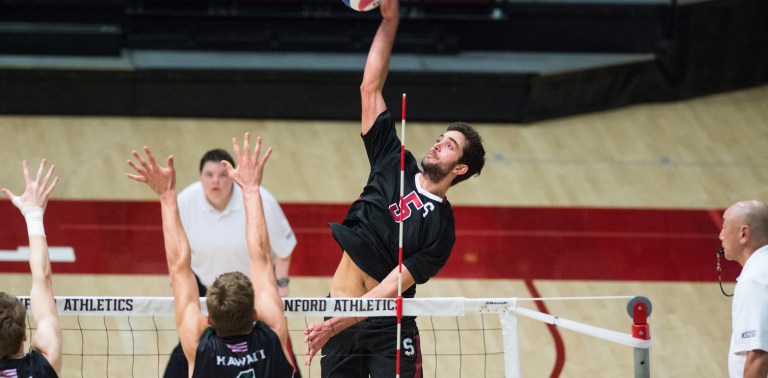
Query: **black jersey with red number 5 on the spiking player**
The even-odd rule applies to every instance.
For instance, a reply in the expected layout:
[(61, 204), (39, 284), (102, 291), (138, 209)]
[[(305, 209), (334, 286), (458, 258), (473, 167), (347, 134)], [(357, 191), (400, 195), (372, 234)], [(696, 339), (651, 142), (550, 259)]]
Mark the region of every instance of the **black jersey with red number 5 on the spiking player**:
[[(404, 205), (400, 209), (401, 143), (388, 110), (362, 138), (371, 173), (346, 219), (330, 224), (333, 237), (363, 272), (381, 282), (398, 265), (402, 210), (403, 265), (416, 283), (425, 283), (445, 265), (456, 241), (451, 204), (421, 188), (418, 163), (406, 150)], [(414, 286), (403, 296), (410, 298), (415, 293)]]

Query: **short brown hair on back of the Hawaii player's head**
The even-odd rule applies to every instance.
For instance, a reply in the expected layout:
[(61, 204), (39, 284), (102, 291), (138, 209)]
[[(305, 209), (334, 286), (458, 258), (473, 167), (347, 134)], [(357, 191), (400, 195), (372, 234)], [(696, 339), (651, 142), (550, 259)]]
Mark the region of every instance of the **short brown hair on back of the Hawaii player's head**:
[(219, 336), (250, 332), (253, 328), (253, 284), (240, 272), (224, 273), (206, 297), (211, 326)]

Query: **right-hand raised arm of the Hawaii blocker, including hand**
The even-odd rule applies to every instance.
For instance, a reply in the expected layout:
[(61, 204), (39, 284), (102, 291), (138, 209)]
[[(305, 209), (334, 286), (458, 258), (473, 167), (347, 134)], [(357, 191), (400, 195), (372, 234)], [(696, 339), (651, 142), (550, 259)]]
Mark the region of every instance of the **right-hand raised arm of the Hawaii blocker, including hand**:
[(237, 139), (232, 138), (237, 169), (228, 162), (222, 162), (227, 167), (229, 177), (242, 188), (243, 203), (245, 204), (245, 227), (248, 253), (250, 255), (249, 276), (253, 283), (253, 293), (256, 315), (271, 328), (280, 338), (283, 352), (290, 361), (286, 342), (288, 340), (288, 323), (283, 312), (283, 301), (277, 291), (275, 272), (269, 255), (269, 233), (264, 219), (264, 207), (261, 198), (261, 180), (264, 166), (272, 154), (269, 148), (264, 156), (261, 153), (261, 138), (256, 138), (253, 153), (250, 153), (250, 134), (245, 133), (243, 148), (240, 149)]

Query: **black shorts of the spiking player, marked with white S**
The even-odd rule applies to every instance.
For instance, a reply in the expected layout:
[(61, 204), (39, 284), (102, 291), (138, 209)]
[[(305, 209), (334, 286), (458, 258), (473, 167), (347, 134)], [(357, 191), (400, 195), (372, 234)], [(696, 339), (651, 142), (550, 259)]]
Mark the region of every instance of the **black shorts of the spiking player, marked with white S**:
[[(416, 319), (401, 324), (400, 375), (421, 377), (421, 347)], [(331, 337), (320, 357), (323, 377), (395, 376), (397, 321), (391, 317), (368, 318)]]

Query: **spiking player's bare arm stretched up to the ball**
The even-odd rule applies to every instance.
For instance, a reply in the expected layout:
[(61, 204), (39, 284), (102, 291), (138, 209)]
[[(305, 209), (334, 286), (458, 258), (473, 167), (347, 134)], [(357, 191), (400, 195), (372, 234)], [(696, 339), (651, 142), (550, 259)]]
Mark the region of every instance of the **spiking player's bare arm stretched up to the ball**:
[(398, 0), (381, 2), (381, 23), (368, 51), (363, 82), (360, 85), (363, 135), (368, 133), (376, 117), (387, 109), (382, 90), (387, 80), (392, 45), (395, 43), (397, 27), (400, 23), (399, 7)]

